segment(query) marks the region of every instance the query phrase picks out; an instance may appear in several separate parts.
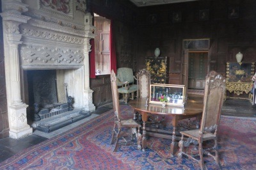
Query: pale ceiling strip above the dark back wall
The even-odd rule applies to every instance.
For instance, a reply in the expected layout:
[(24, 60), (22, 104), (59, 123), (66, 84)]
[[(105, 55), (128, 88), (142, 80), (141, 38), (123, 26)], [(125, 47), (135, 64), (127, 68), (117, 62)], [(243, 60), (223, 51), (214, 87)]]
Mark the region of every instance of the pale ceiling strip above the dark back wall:
[(171, 4), (171, 3), (184, 3), (188, 1), (198, 1), (198, 0), (129, 0), (138, 7), (152, 6), (159, 4)]

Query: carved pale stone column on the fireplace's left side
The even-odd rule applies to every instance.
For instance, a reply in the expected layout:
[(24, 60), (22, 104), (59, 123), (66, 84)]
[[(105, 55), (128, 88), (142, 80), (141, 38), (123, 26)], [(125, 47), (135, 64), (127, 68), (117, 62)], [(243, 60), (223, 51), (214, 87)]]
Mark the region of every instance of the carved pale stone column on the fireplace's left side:
[[(13, 0), (15, 1), (15, 0)], [(3, 1), (3, 35), (4, 35), (4, 60), (6, 74), (6, 95), (8, 104), (8, 120), (10, 137), (18, 139), (32, 134), (32, 128), (27, 123), (26, 107), (20, 94), (20, 68), (19, 68), (19, 44), (22, 35), (19, 25), (26, 23), (30, 18), (21, 15), (28, 10), (26, 5), (19, 0)], [(14, 8), (14, 9), (13, 9)]]

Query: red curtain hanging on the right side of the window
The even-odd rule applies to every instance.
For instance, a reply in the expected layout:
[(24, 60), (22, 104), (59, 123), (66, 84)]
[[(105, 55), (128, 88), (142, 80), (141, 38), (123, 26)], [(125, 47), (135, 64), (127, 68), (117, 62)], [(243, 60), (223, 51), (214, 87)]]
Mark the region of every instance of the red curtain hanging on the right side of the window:
[(109, 34), (109, 44), (110, 44), (110, 68), (116, 73), (116, 49), (115, 49), (115, 39), (113, 36), (113, 20), (110, 22), (110, 34)]

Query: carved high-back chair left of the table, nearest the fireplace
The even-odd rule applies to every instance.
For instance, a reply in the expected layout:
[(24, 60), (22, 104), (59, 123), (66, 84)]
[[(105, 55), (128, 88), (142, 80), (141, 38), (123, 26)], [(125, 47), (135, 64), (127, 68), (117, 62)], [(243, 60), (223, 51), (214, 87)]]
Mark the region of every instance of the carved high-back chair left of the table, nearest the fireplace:
[(111, 70), (111, 89), (112, 89), (112, 98), (113, 98), (113, 108), (115, 112), (115, 124), (112, 132), (111, 142), (113, 144), (115, 141), (115, 148), (113, 151), (117, 150), (117, 146), (121, 143), (118, 143), (122, 138), (125, 143), (127, 143), (127, 139), (125, 137), (126, 133), (121, 133), (122, 128), (131, 128), (131, 140), (133, 140), (134, 134), (137, 137), (137, 145), (138, 150), (141, 150), (141, 134), (140, 134), (140, 127), (141, 125), (134, 121), (132, 118), (128, 120), (124, 120), (121, 118), (121, 112), (119, 107), (119, 99), (118, 99), (118, 91), (117, 91), (117, 82), (116, 82), (116, 75), (113, 70)]

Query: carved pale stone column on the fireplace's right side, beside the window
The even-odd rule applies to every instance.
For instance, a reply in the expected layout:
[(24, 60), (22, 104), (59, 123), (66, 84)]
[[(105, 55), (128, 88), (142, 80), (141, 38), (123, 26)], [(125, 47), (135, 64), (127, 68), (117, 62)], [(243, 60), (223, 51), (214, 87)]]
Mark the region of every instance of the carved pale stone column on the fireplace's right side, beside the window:
[(92, 103), (93, 90), (90, 89), (90, 63), (89, 52), (91, 51), (90, 39), (94, 38), (95, 27), (92, 26), (92, 15), (86, 13), (84, 17), (86, 26), (86, 38), (84, 43), (84, 105), (86, 111), (95, 111), (95, 105)]

